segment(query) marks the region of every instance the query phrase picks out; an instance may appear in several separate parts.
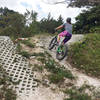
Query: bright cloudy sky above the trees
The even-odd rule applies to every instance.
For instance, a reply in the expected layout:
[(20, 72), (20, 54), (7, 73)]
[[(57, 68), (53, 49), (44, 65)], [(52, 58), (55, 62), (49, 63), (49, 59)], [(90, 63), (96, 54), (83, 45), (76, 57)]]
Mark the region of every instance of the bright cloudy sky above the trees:
[(38, 13), (38, 20), (46, 18), (51, 13), (54, 19), (61, 15), (66, 20), (67, 17), (72, 18), (75, 22), (75, 17), (82, 11), (80, 8), (67, 8), (67, 4), (51, 5), (43, 2), (43, 0), (0, 0), (0, 7), (7, 7), (21, 14), (26, 12), (26, 9)]

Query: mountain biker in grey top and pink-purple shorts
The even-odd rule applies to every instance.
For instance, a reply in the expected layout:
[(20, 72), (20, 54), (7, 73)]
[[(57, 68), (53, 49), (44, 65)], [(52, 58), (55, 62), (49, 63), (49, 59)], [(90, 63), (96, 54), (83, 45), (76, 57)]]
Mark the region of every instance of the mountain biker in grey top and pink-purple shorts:
[(63, 42), (62, 42), (62, 45), (65, 44), (67, 41), (69, 41), (72, 37), (72, 25), (71, 25), (71, 18), (70, 17), (68, 17), (66, 19), (66, 23), (58, 26), (57, 28), (55, 28), (55, 30), (59, 30), (63, 27), (65, 30), (63, 32), (61, 32), (60, 34), (58, 34), (58, 37), (57, 37), (58, 44), (59, 44), (60, 38), (65, 37)]

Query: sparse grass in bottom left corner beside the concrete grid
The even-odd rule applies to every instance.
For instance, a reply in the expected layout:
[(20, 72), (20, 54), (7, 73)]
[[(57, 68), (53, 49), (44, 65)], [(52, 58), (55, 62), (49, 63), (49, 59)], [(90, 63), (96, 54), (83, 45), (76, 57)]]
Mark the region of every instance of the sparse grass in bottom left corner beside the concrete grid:
[(13, 90), (14, 84), (12, 79), (8, 76), (6, 71), (0, 66), (0, 100), (16, 100), (17, 94)]

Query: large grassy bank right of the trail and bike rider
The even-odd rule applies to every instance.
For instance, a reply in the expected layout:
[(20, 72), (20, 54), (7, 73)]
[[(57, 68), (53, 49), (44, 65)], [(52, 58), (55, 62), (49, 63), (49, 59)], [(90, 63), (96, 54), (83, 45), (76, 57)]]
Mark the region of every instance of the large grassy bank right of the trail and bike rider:
[(82, 43), (75, 43), (69, 50), (73, 67), (100, 77), (100, 34), (88, 34)]

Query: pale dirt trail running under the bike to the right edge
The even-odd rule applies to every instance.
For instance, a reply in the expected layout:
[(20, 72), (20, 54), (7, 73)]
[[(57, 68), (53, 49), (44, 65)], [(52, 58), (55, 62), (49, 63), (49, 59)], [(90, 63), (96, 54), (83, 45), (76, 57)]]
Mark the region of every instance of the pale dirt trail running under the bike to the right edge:
[[(82, 38), (83, 38), (83, 35), (73, 35), (72, 39), (68, 42), (68, 45), (70, 45), (76, 41), (81, 41)], [(52, 39), (52, 37), (48, 37), (48, 38), (46, 37), (45, 39), (44, 39), (44, 37), (41, 37), (42, 44), (46, 47), (47, 50), (48, 50), (48, 44), (51, 39)], [(59, 62), (61, 65), (64, 65), (67, 69), (69, 69), (73, 73), (74, 76), (77, 77), (76, 83), (75, 83), (76, 86), (81, 86), (84, 83), (87, 83), (87, 84), (93, 85), (97, 88), (100, 87), (100, 79), (87, 76), (87, 75), (79, 72), (76, 68), (72, 68), (71, 65), (67, 62), (67, 58), (65, 58), (62, 61), (58, 61), (56, 59), (56, 49), (53, 49), (52, 51), (48, 50), (48, 52), (52, 55), (52, 57), (57, 62)]]

